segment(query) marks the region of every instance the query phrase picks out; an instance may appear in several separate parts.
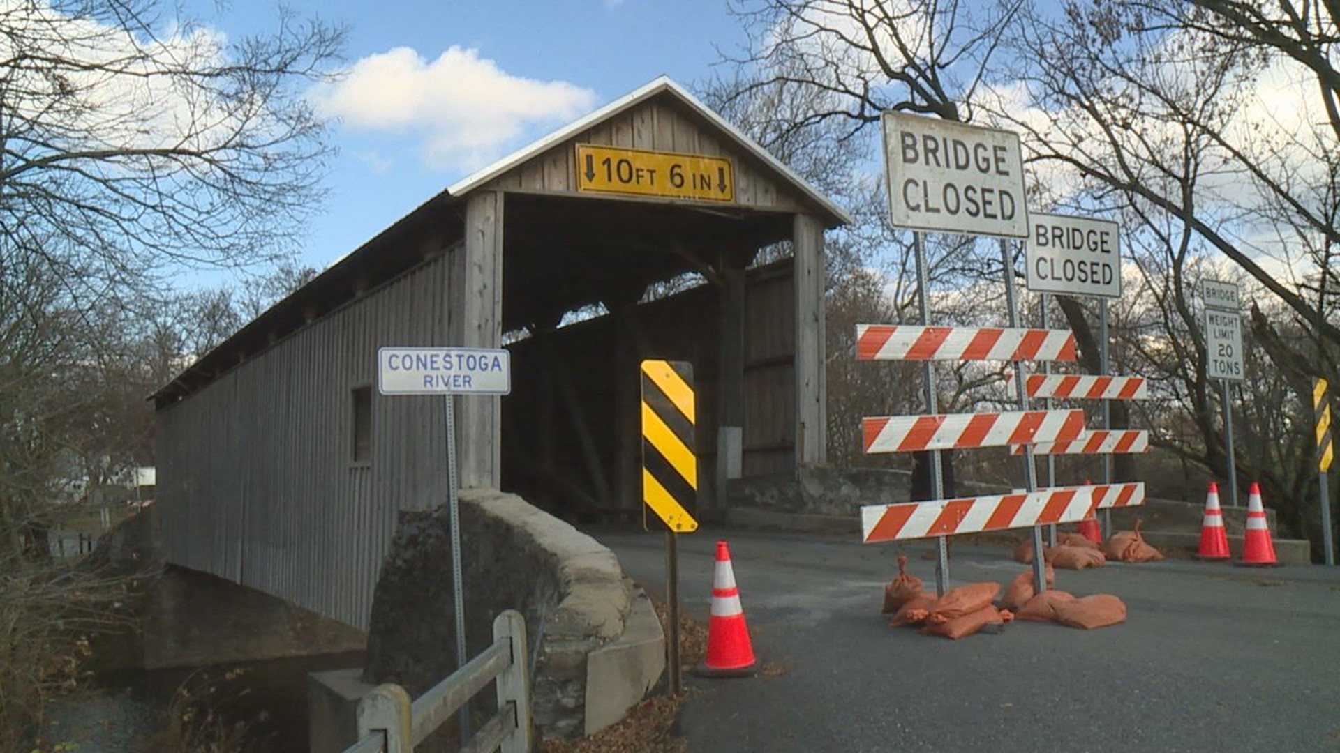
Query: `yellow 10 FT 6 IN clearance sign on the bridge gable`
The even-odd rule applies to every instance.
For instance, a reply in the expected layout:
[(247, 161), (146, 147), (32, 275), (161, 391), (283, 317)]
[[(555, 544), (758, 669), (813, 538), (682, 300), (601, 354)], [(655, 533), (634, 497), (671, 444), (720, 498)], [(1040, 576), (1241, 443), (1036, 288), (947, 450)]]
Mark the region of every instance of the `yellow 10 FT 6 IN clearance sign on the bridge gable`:
[(734, 201), (736, 176), (722, 157), (579, 143), (578, 190)]

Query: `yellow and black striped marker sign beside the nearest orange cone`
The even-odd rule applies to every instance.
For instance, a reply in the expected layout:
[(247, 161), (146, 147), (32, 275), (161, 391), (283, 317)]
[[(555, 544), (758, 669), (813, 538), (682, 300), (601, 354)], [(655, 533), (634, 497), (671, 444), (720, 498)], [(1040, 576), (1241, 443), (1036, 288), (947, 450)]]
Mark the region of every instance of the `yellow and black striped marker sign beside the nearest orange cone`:
[(642, 525), (647, 508), (675, 533), (698, 529), (693, 364), (642, 362)]

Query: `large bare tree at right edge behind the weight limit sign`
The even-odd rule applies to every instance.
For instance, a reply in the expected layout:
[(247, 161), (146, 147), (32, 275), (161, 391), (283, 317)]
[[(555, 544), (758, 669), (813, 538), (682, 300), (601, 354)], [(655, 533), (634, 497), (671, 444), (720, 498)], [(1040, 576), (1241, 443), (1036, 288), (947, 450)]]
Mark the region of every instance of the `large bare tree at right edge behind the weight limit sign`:
[[(988, 106), (1063, 186), (1055, 198), (1126, 220), (1143, 295), (1118, 335), (1164, 398), (1146, 418), (1158, 445), (1217, 474), (1226, 472), (1223, 429), (1191, 289), (1227, 276), (1257, 299), (1249, 381), (1235, 390), (1245, 399), (1230, 406), (1250, 438), (1237, 446), (1237, 468), (1298, 533), (1316, 531), (1298, 504), (1316, 473), (1302, 398), (1312, 376), (1335, 376), (1340, 352), (1340, 122), (1321, 59), (1333, 27), (1312, 3), (1072, 1), (1020, 16), (1001, 76), (1013, 99)], [(1315, 94), (1288, 83), (1300, 72)], [(1288, 92), (1290, 107), (1262, 106), (1262, 87)]]

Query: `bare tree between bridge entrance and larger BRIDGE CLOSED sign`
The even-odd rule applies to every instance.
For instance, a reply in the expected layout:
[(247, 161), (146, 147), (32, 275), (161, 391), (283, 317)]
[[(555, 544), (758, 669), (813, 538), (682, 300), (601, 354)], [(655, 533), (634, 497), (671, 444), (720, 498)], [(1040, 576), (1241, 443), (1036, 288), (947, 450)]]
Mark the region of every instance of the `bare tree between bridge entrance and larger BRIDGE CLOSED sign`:
[[(833, 462), (890, 462), (890, 457), (862, 454), (860, 418), (911, 413), (923, 401), (919, 367), (855, 362), (858, 323), (921, 319), (910, 237), (890, 225), (883, 180), (870, 170), (879, 153), (878, 127), (870, 126), (884, 110), (970, 119), (972, 92), (1000, 42), (1001, 21), (1017, 7), (1001, 3), (974, 13), (958, 3), (935, 0), (733, 5), (750, 43), (729, 58), (733, 75), (713, 82), (705, 98), (855, 217), (852, 226), (829, 233), (825, 248), (827, 415)], [(933, 236), (926, 251), (933, 319), (980, 323), (967, 314), (978, 301), (957, 291), (1000, 277), (994, 244)], [(992, 295), (992, 300), (998, 297)], [(941, 364), (937, 370), (939, 405), (947, 410), (998, 397), (980, 390), (1000, 383), (998, 370), (974, 364)]]

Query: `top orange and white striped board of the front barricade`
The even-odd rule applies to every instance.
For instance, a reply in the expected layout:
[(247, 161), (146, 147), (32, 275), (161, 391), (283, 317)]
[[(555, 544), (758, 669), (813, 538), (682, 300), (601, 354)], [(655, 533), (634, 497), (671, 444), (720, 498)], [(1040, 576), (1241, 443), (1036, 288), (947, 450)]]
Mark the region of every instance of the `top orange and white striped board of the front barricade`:
[(1076, 351), (1067, 330), (856, 324), (856, 359), (1076, 360)]

